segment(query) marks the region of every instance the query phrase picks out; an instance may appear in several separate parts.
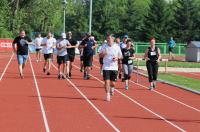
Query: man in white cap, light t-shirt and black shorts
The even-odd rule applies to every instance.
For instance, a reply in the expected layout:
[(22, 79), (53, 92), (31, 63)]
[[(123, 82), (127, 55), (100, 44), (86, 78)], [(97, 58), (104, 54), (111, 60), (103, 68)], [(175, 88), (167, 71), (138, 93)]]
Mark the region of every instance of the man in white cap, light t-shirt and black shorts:
[[(61, 39), (57, 41), (57, 63), (58, 63), (58, 79), (66, 79), (69, 77), (69, 56), (67, 48), (70, 48), (71, 44), (66, 40), (66, 33), (61, 34)], [(61, 70), (61, 64), (63, 65)], [(67, 77), (66, 77), (67, 75)]]

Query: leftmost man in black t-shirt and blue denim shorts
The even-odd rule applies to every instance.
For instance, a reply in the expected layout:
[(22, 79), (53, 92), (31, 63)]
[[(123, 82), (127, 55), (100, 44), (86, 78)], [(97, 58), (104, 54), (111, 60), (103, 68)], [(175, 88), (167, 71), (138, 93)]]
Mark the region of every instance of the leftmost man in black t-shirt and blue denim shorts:
[[(20, 77), (23, 79), (23, 69), (26, 65), (28, 59), (28, 45), (32, 44), (32, 40), (26, 36), (24, 30), (20, 31), (20, 35), (16, 37), (13, 41), (13, 51), (17, 55), (17, 60), (19, 64)], [(17, 45), (17, 49), (16, 46)]]

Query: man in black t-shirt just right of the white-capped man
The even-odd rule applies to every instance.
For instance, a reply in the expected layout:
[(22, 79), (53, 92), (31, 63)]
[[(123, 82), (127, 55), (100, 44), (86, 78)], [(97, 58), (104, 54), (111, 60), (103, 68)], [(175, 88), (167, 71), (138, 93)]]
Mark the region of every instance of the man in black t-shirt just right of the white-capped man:
[(75, 58), (75, 48), (77, 48), (77, 42), (74, 39), (72, 39), (72, 33), (70, 31), (67, 33), (67, 40), (71, 44), (71, 48), (67, 48), (67, 53), (68, 53), (69, 61), (70, 61), (69, 77), (71, 77), (72, 65)]

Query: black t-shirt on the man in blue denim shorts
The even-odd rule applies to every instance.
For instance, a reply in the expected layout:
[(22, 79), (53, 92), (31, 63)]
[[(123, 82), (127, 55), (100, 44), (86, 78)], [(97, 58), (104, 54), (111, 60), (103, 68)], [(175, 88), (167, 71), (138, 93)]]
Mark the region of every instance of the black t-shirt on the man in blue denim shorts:
[(32, 40), (27, 36), (18, 36), (14, 39), (13, 44), (17, 44), (17, 55), (28, 55), (28, 44), (26, 41), (32, 42)]

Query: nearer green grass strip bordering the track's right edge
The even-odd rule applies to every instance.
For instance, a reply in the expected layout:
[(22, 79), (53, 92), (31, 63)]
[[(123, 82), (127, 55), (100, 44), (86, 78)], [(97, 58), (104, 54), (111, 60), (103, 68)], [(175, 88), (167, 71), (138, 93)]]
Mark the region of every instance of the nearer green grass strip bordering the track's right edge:
[(187, 78), (171, 73), (161, 73), (159, 74), (159, 79), (200, 91), (200, 81), (197, 79)]

